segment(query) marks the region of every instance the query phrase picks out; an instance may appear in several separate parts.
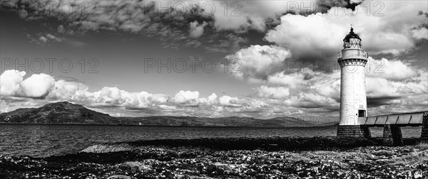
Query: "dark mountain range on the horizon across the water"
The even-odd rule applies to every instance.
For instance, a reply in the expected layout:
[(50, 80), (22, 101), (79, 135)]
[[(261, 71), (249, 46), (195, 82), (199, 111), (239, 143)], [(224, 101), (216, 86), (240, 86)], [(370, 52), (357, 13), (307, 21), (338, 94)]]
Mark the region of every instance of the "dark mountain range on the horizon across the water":
[(16, 109), (0, 114), (0, 122), (13, 123), (78, 123), (78, 124), (126, 124), (126, 125), (170, 125), (170, 126), (315, 126), (310, 121), (295, 117), (254, 119), (251, 117), (228, 116), (220, 118), (195, 116), (141, 116), (113, 117), (95, 112), (79, 104), (55, 102), (39, 108)]

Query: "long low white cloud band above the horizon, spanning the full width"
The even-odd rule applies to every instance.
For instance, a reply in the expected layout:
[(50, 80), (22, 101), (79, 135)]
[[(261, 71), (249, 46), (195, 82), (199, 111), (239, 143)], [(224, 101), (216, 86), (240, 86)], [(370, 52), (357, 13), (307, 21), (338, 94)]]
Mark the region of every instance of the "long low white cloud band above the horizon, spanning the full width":
[[(428, 73), (399, 60), (382, 59), (383, 73), (367, 72), (366, 90), (369, 114), (416, 111), (426, 107)], [(370, 61), (374, 61), (370, 58)], [(393, 72), (397, 71), (397, 74)], [(415, 75), (416, 74), (416, 75)], [(2, 110), (36, 107), (48, 102), (76, 102), (111, 114), (126, 116), (283, 116), (338, 114), (340, 109), (340, 71), (320, 72), (310, 69), (277, 72), (260, 80), (247, 97), (210, 94), (200, 97), (198, 91), (180, 90), (173, 97), (149, 92), (127, 92), (118, 87), (103, 87), (90, 92), (81, 82), (55, 81), (45, 74), (24, 79), (26, 72), (6, 70), (0, 75)], [(8, 104), (4, 104), (7, 102)], [(25, 103), (25, 104), (24, 104)], [(10, 104), (16, 104), (13, 107)]]

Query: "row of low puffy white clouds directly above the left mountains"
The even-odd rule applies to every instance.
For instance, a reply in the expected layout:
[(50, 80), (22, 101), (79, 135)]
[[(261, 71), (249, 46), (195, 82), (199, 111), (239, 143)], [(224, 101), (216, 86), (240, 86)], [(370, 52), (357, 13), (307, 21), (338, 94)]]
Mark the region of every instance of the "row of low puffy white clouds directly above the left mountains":
[[(81, 82), (55, 81), (54, 77), (46, 74), (34, 74), (24, 79), (25, 75), (26, 72), (19, 70), (6, 70), (0, 75), (2, 103), (6, 100), (11, 104), (18, 103), (22, 107), (35, 107), (47, 102), (68, 101), (83, 104), (101, 112), (103, 109), (108, 109), (105, 112), (112, 115), (121, 113), (121, 116), (123, 112), (126, 114), (136, 112), (138, 115), (179, 116), (210, 116), (213, 111), (224, 116), (248, 112), (258, 114), (267, 106), (263, 101), (255, 99), (247, 101), (229, 96), (218, 99), (215, 93), (208, 97), (200, 97), (198, 91), (189, 90), (180, 90), (174, 97), (145, 91), (127, 92), (118, 87), (103, 87), (98, 91), (90, 92), (88, 86)], [(11, 107), (9, 104), (5, 105)], [(5, 108), (1, 110), (6, 111)]]

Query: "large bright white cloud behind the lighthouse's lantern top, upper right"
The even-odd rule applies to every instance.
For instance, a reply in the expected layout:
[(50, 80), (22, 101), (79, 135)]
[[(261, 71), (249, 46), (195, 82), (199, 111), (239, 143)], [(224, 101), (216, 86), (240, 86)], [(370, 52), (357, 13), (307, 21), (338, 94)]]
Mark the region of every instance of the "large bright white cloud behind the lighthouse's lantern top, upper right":
[(332, 8), (325, 14), (311, 16), (287, 14), (281, 17), (280, 25), (267, 32), (265, 39), (289, 49), (296, 58), (332, 58), (340, 50), (351, 22), (370, 54), (397, 55), (413, 48), (412, 29), (427, 21), (426, 17), (417, 16), (417, 11), (427, 7), (427, 2), (382, 1), (382, 4), (383, 11), (374, 15), (363, 5), (354, 12)]

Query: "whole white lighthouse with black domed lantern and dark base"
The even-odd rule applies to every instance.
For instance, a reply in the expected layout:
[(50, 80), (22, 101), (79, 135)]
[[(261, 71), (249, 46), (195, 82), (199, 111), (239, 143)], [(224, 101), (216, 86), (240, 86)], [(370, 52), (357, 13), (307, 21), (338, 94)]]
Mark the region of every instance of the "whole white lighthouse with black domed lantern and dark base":
[[(337, 136), (365, 136), (359, 119), (367, 116), (365, 65), (368, 55), (362, 48), (361, 38), (351, 27), (343, 39), (338, 54), (340, 65), (340, 123)], [(363, 120), (362, 120), (363, 121)]]

